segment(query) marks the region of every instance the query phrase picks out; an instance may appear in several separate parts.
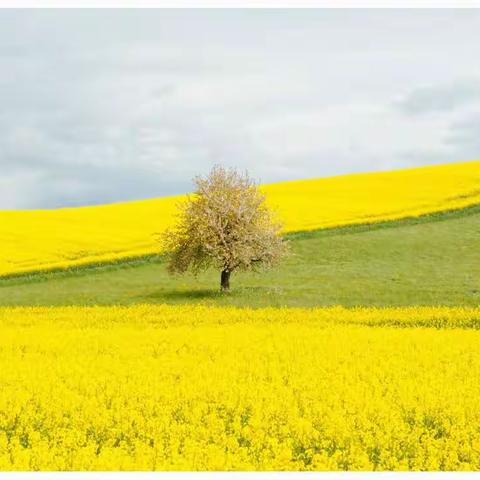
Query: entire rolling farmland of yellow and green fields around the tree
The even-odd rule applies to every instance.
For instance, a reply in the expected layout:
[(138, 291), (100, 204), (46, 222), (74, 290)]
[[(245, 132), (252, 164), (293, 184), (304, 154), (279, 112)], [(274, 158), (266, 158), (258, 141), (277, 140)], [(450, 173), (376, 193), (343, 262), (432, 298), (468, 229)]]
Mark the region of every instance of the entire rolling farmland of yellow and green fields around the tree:
[(265, 186), (293, 255), (229, 294), (179, 198), (1, 212), (0, 470), (480, 469), (479, 173)]

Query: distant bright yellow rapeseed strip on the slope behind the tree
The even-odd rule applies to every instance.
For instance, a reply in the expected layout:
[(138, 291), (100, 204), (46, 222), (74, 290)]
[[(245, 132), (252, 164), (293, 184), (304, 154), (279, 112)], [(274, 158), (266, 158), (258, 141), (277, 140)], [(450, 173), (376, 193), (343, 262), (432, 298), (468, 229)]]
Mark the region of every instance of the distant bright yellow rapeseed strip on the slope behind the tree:
[[(378, 222), (480, 203), (480, 161), (265, 185), (285, 232)], [(165, 197), (95, 207), (0, 211), (0, 275), (158, 252)]]

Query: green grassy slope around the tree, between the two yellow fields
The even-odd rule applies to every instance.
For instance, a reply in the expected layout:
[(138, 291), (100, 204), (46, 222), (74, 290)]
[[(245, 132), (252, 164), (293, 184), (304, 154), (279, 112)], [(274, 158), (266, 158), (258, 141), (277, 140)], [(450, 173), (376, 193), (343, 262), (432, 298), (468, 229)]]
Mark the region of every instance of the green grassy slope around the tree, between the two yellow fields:
[(264, 274), (170, 277), (161, 258), (0, 280), (0, 305), (202, 303), (235, 306), (480, 305), (480, 206), (290, 236)]

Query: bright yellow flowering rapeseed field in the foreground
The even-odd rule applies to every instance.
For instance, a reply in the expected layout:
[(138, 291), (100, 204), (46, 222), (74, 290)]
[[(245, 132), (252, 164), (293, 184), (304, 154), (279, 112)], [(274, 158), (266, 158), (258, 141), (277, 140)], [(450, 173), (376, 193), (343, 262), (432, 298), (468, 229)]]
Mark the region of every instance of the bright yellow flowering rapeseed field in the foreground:
[(0, 470), (480, 469), (480, 309), (0, 309)]

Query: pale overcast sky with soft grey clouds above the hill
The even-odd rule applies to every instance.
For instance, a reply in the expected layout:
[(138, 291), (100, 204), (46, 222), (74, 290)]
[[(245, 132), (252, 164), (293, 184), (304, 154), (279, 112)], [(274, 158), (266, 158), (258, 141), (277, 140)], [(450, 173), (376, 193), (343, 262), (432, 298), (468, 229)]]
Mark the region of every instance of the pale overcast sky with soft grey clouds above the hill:
[(0, 208), (480, 158), (480, 10), (2, 10)]

